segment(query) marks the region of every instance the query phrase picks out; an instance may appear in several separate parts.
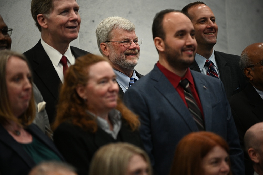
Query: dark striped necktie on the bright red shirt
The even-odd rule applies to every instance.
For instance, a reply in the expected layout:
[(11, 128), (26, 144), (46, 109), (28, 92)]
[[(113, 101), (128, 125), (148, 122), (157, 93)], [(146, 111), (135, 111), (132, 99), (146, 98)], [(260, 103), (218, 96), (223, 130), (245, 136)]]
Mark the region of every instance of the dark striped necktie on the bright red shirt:
[(188, 109), (192, 114), (199, 131), (204, 131), (205, 125), (203, 116), (192, 94), (191, 88), (189, 86), (189, 81), (187, 79), (183, 79), (180, 80), (179, 84), (184, 88), (184, 95), (186, 103), (188, 105)]

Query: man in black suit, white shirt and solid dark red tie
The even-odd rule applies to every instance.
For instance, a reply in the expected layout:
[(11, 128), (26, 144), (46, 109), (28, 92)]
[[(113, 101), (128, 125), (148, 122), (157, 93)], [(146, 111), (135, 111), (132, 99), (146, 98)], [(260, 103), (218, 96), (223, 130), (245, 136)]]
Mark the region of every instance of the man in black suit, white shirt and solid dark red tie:
[(55, 117), (59, 86), (75, 59), (88, 52), (72, 47), (80, 28), (79, 6), (75, 0), (32, 0), (31, 14), (41, 39), (24, 55), (32, 68), (34, 83), (47, 102), (49, 121)]

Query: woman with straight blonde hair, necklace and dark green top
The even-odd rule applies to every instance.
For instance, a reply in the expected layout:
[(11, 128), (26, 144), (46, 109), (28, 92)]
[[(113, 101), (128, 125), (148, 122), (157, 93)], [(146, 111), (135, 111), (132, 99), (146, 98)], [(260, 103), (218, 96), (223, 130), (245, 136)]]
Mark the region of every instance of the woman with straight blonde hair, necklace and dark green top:
[(35, 102), (28, 61), (0, 51), (0, 174), (27, 175), (43, 160), (63, 161), (51, 139), (32, 121)]

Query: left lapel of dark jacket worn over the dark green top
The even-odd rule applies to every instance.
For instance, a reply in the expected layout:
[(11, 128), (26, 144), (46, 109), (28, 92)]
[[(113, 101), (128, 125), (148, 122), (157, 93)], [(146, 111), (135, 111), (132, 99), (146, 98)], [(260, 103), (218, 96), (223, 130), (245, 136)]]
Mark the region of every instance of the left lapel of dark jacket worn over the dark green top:
[(17, 155), (20, 156), (21, 159), (24, 160), (30, 168), (36, 165), (33, 159), (23, 149), (22, 145), (19, 144), (16, 140), (14, 140), (13, 137), (4, 129), (4, 127), (1, 124), (0, 133), (0, 141), (3, 142), (3, 144), (10, 147), (14, 152), (16, 152)]

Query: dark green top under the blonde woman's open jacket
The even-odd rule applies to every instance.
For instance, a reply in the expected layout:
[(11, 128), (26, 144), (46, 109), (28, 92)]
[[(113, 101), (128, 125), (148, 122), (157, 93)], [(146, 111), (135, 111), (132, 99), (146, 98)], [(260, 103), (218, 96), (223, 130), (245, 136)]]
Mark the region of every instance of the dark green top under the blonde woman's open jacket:
[(49, 149), (49, 147), (47, 147), (45, 144), (43, 144), (35, 137), (33, 137), (33, 141), (31, 143), (21, 144), (21, 145), (24, 148), (24, 150), (26, 150), (26, 152), (32, 157), (32, 159), (36, 164), (44, 160), (61, 161), (59, 156), (54, 151)]

